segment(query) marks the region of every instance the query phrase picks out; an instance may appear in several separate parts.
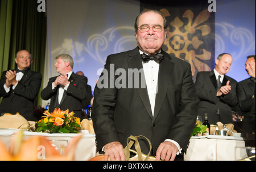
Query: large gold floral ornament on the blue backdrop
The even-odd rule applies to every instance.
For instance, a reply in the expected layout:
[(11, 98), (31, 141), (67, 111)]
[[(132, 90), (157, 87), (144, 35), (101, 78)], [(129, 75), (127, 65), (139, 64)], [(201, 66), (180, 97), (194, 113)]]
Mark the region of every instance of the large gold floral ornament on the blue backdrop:
[[(166, 17), (170, 16), (170, 13), (166, 9), (162, 9), (160, 12)], [(167, 28), (167, 38), (164, 41), (164, 45), (168, 48), (167, 53), (173, 53), (176, 57), (189, 62), (191, 64), (192, 75), (195, 75), (196, 71), (210, 71), (210, 67), (203, 61), (209, 60), (212, 54), (206, 49), (201, 50), (203, 51), (203, 54), (197, 54), (195, 51), (199, 49), (200, 45), (203, 45), (205, 41), (200, 40), (199, 36), (207, 36), (211, 31), (209, 25), (204, 24), (209, 17), (210, 12), (208, 10), (203, 10), (196, 19), (193, 20), (193, 12), (191, 10), (186, 10), (183, 14), (183, 18), (188, 19), (186, 25), (184, 25), (185, 23), (176, 16), (170, 23), (171, 27), (174, 27), (174, 31), (171, 32), (170, 27)], [(195, 34), (197, 30), (201, 31), (198, 32), (200, 35), (198, 33)]]

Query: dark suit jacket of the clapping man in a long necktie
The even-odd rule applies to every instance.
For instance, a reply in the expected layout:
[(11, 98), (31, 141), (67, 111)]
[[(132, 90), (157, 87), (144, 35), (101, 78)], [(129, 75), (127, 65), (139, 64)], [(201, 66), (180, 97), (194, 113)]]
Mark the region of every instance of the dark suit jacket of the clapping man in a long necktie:
[[(198, 114), (204, 117), (204, 114), (207, 113), (210, 124), (217, 122), (233, 123), (232, 110), (237, 104), (237, 81), (225, 75), (221, 86), (226, 85), (228, 80), (230, 80), (231, 91), (226, 95), (217, 97), (217, 80), (214, 71), (197, 73), (195, 87), (200, 99)], [(220, 115), (217, 114), (218, 109)]]

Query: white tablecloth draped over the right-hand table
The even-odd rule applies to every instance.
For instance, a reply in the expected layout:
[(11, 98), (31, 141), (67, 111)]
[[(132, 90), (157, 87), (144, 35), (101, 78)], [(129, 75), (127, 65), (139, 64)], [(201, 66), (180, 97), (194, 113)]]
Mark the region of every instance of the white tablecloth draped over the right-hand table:
[(191, 137), (185, 161), (235, 161), (243, 157), (236, 147), (245, 147), (242, 137), (199, 136)]

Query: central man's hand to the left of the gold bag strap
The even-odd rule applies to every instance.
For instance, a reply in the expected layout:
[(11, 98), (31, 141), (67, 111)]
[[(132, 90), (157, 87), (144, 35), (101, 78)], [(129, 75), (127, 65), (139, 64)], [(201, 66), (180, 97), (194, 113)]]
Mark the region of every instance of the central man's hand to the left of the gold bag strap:
[(114, 161), (125, 161), (125, 152), (123, 152), (123, 145), (119, 141), (113, 141), (108, 143), (104, 147), (105, 152), (105, 161), (110, 160)]

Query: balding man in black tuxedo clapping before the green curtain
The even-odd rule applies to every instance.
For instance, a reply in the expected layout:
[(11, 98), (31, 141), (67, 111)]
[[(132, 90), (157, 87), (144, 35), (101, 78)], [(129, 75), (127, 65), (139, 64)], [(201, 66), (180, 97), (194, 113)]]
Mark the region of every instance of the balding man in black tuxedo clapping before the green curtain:
[(38, 96), (42, 75), (30, 70), (32, 55), (27, 50), (16, 54), (16, 70), (4, 71), (0, 80), (0, 113), (19, 113), (27, 121), (35, 121), (34, 100)]

